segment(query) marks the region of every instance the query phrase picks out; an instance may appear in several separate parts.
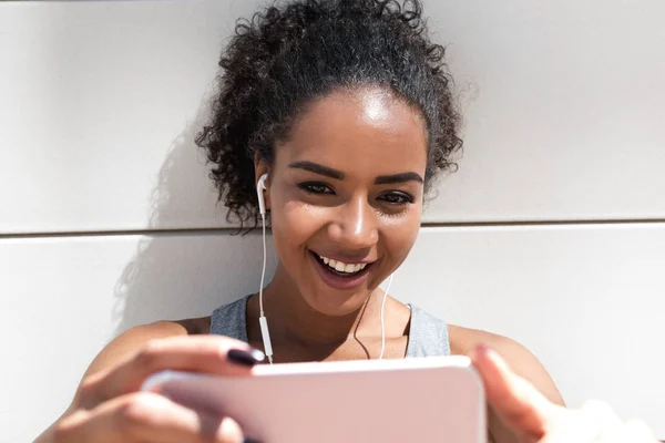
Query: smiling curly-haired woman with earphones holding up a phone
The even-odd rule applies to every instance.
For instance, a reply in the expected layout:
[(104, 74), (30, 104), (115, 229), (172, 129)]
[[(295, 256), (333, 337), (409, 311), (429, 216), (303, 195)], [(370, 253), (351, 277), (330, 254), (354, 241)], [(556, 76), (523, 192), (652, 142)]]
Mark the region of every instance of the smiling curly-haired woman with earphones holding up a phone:
[(198, 144), (243, 223), (259, 220), (256, 186), (266, 176), (275, 276), (263, 300), (115, 339), (38, 441), (243, 441), (231, 418), (136, 391), (162, 369), (248, 374), (259, 360), (253, 349), (264, 349), (263, 311), (275, 362), (471, 356), (491, 441), (654, 441), (601, 403), (564, 409), (545, 369), (514, 341), (447, 326), (379, 288), (409, 254), (423, 198), (461, 147), (443, 49), (430, 41), (418, 1), (272, 7), (238, 24), (221, 66)]

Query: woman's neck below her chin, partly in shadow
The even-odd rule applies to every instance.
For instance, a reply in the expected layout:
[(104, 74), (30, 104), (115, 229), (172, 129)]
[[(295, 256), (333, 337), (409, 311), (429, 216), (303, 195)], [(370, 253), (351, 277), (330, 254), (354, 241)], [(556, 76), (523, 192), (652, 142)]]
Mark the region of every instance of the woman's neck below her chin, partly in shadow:
[(326, 316), (313, 309), (282, 265), (264, 289), (264, 308), (274, 348), (297, 346), (331, 352), (350, 337), (380, 336), (383, 291), (375, 289), (359, 309), (342, 316)]

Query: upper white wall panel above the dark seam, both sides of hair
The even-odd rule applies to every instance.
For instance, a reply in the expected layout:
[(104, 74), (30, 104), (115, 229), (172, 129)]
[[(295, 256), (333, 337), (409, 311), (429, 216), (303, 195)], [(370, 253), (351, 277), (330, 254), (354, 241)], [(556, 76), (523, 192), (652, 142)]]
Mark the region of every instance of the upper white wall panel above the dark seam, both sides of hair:
[[(225, 225), (194, 136), (258, 3), (0, 4), (0, 233)], [(664, 2), (426, 6), (467, 143), (427, 220), (665, 218)]]

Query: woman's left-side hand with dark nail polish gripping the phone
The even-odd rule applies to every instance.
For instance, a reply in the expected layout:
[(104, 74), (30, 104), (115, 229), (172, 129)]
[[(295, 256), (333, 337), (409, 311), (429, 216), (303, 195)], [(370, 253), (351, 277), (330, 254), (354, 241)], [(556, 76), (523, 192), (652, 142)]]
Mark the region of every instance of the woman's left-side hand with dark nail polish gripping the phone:
[(256, 351), (225, 337), (153, 340), (129, 360), (81, 383), (73, 412), (54, 424), (53, 441), (243, 442), (242, 430), (232, 419), (211, 416), (139, 390), (149, 375), (165, 369), (243, 377), (256, 362)]

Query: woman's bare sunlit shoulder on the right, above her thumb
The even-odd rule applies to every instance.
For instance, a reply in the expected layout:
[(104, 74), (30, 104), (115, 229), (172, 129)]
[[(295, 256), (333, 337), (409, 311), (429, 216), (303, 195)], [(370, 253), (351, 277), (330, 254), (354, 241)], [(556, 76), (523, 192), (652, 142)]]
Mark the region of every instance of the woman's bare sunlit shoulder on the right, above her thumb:
[(499, 352), (516, 374), (529, 380), (551, 402), (563, 404), (563, 399), (546, 369), (521, 343), (508, 337), (453, 324), (448, 326), (448, 333), (452, 354), (471, 356), (477, 347), (487, 344)]

